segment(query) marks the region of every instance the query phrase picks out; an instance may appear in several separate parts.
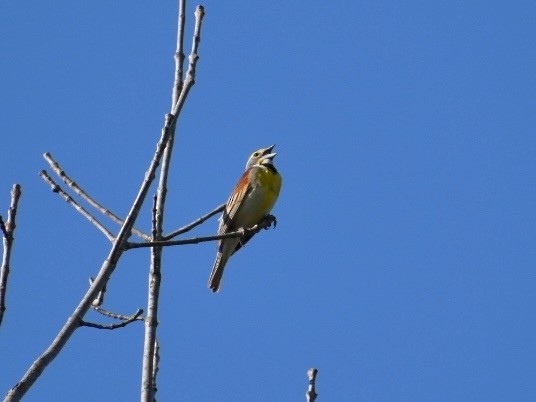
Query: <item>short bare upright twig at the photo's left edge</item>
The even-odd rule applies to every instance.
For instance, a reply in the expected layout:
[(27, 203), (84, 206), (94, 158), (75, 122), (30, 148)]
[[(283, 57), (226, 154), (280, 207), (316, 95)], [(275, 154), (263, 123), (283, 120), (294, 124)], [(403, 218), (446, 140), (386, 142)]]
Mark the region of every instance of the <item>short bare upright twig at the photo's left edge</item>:
[(9, 262), (11, 260), (11, 247), (13, 246), (13, 233), (15, 232), (15, 217), (17, 216), (17, 205), (21, 195), (20, 185), (14, 184), (11, 189), (11, 204), (7, 211), (7, 221), (4, 223), (0, 216), (0, 228), (3, 235), (4, 254), (2, 256), (2, 266), (0, 266), (0, 325), (4, 319), (6, 311), (7, 278), (9, 276)]

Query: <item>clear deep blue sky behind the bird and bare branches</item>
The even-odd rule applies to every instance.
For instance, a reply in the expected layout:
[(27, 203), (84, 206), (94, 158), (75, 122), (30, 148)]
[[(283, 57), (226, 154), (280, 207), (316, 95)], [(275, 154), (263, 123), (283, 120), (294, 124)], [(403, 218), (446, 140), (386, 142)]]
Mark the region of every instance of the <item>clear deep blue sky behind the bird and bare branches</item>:
[[(284, 183), (279, 225), (219, 294), (214, 244), (166, 250), (158, 399), (304, 400), (314, 366), (320, 401), (536, 400), (536, 3), (204, 5), (165, 226), (224, 201), (260, 146)], [(23, 188), (2, 395), (110, 248), (37, 176), (41, 155), (128, 211), (170, 108), (176, 9), (2, 5), (2, 214)], [(148, 261), (121, 260), (105, 307), (145, 306)], [(142, 343), (141, 324), (82, 328), (26, 400), (137, 400)]]

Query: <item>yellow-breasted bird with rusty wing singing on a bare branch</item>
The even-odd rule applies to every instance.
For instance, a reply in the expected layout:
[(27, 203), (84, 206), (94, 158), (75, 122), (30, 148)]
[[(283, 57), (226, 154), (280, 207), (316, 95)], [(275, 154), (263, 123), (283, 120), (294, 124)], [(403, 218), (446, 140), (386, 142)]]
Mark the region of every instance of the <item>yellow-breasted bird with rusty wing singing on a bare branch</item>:
[[(262, 222), (272, 210), (279, 191), (281, 175), (274, 166), (275, 145), (253, 152), (246, 162), (246, 169), (238, 179), (220, 218), (218, 234), (250, 228)], [(213, 292), (220, 289), (221, 279), (229, 257), (247, 243), (253, 235), (242, 238), (222, 239), (208, 280)]]

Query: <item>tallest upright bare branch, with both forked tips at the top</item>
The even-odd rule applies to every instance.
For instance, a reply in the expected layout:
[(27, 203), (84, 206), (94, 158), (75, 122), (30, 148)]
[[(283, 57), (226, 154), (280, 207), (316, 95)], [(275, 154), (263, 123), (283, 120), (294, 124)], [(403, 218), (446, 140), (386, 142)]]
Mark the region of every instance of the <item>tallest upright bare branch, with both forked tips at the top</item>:
[[(195, 29), (192, 45), (192, 53), (189, 57), (189, 65), (186, 81), (182, 82), (182, 65), (184, 61), (183, 34), (184, 34), (184, 8), (185, 0), (179, 2), (179, 19), (177, 33), (177, 51), (175, 52), (175, 81), (173, 85), (173, 104), (172, 114), (176, 116), (180, 113), (182, 105), (188, 95), (190, 88), (195, 83), (195, 67), (198, 60), (197, 48), (200, 41), (201, 20), (204, 15), (203, 7), (197, 6), (195, 12)], [(180, 93), (179, 93), (180, 90)], [(170, 114), (166, 116), (168, 119)], [(176, 125), (175, 125), (176, 126)], [(153, 209), (153, 240), (162, 239), (164, 209), (167, 195), (167, 180), (169, 166), (171, 162), (171, 153), (175, 139), (175, 126), (169, 136), (166, 149), (162, 158), (162, 167), (160, 168), (160, 179), (158, 183), (157, 196)], [(158, 325), (158, 299), (160, 295), (160, 283), (162, 280), (162, 247), (156, 246), (151, 248), (151, 267), (149, 270), (149, 289), (147, 296), (147, 317), (145, 319), (145, 339), (143, 347), (143, 364), (141, 380), (141, 401), (152, 402), (155, 398), (156, 384), (154, 383), (155, 367), (155, 345), (157, 344), (156, 327)]]

